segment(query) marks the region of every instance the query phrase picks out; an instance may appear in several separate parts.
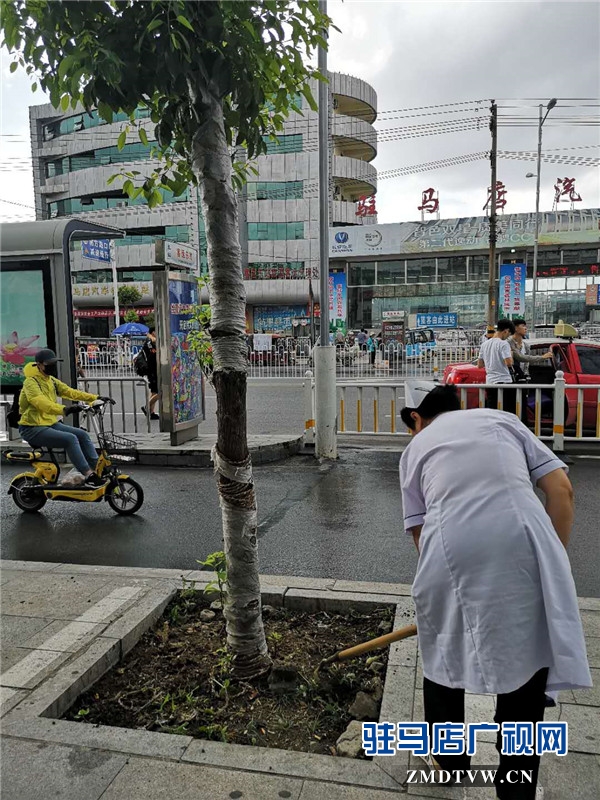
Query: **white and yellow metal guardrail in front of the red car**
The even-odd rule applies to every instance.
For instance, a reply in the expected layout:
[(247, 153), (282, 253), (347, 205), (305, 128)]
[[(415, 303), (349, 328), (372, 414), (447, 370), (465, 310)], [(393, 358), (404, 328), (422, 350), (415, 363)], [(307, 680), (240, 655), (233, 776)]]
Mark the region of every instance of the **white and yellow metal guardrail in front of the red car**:
[[(338, 381), (338, 433), (367, 436), (409, 436), (399, 419), (405, 382)], [(462, 384), (456, 387), (462, 408), (483, 408), (486, 390), (497, 391), (497, 408), (515, 404), (516, 414), (555, 451), (567, 441), (600, 442), (600, 384), (567, 384), (556, 373), (552, 384)], [(305, 440), (315, 435), (314, 379), (304, 381)]]

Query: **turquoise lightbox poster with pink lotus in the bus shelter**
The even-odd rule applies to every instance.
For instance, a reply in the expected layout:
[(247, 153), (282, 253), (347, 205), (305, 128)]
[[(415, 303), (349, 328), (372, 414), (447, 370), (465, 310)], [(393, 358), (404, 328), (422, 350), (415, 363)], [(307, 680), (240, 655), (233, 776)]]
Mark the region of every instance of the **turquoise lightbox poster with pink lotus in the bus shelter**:
[(48, 344), (43, 271), (3, 270), (0, 295), (2, 386), (22, 386), (23, 367)]

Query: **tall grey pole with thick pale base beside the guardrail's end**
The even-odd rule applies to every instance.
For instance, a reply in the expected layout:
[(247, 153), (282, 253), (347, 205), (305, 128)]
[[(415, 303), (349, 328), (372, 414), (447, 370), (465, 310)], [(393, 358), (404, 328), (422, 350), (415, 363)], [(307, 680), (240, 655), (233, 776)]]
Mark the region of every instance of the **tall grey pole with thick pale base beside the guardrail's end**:
[[(319, 0), (327, 14), (327, 0)], [(325, 36), (325, 32), (323, 32)], [(327, 77), (327, 50), (319, 47), (319, 72)], [(337, 458), (335, 347), (329, 344), (329, 84), (319, 81), (320, 340), (315, 347), (315, 455)]]

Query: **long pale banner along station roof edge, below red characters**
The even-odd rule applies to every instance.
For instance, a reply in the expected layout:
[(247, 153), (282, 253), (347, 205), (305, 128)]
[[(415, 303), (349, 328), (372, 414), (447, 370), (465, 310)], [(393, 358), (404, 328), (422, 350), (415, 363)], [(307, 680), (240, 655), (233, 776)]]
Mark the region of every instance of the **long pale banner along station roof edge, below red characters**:
[[(329, 231), (331, 258), (372, 257), (448, 250), (486, 250), (488, 217), (353, 225)], [(498, 219), (498, 247), (533, 246), (535, 214), (505, 214)], [(540, 215), (540, 245), (600, 241), (600, 209), (545, 212)]]

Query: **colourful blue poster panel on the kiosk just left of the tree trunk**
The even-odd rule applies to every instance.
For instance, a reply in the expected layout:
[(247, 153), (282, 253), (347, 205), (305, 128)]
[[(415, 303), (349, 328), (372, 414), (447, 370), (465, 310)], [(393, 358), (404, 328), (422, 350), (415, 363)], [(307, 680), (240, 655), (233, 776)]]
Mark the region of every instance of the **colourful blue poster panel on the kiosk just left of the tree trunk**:
[(175, 425), (204, 418), (202, 370), (190, 349), (187, 335), (198, 326), (194, 309), (198, 303), (195, 282), (169, 280), (171, 328), (171, 387)]

